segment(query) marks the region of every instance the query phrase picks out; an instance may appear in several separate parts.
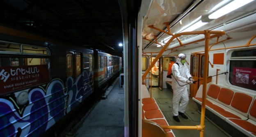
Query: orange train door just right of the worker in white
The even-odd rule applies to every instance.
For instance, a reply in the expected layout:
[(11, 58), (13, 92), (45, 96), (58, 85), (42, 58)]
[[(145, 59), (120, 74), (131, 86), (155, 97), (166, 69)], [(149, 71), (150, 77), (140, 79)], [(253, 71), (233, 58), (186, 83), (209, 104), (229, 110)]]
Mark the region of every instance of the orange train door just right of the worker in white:
[[(192, 54), (191, 55), (191, 68), (190, 73), (192, 78), (196, 82), (195, 84), (190, 85), (190, 97), (195, 97), (197, 90), (201, 84), (203, 84), (203, 68), (204, 68), (204, 54)], [(208, 74), (207, 74), (208, 76)], [(211, 77), (207, 79), (207, 83), (211, 82)]]

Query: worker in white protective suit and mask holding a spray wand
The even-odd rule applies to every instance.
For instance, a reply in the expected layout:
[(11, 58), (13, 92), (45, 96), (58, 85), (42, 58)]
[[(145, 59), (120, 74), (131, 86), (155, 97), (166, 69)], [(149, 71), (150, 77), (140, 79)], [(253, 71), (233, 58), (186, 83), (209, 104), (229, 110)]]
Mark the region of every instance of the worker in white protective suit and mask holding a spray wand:
[[(186, 64), (186, 55), (180, 53), (177, 58), (177, 62), (171, 67), (172, 72), (172, 84), (171, 88), (173, 90), (172, 98), (172, 108), (173, 108), (173, 118), (176, 122), (180, 122), (178, 115), (187, 119), (187, 116), (184, 114), (187, 107), (189, 98), (187, 93), (187, 84), (193, 84), (193, 79), (190, 75)], [(185, 85), (185, 86), (183, 86)], [(179, 105), (179, 101), (181, 104)]]

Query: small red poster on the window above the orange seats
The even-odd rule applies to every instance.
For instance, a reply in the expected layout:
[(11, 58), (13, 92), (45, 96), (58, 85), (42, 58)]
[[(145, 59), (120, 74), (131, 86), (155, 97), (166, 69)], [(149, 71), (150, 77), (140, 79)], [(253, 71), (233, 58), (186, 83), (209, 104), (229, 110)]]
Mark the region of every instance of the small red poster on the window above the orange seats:
[(256, 69), (254, 68), (240, 68), (233, 69), (233, 84), (249, 89), (256, 89)]

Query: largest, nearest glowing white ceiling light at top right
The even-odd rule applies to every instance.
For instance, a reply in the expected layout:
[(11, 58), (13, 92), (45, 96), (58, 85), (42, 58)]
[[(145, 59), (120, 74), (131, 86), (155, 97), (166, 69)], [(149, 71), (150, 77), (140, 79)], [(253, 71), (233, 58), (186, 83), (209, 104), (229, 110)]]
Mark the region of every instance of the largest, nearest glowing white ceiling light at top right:
[[(217, 18), (219, 18), (223, 15), (226, 15), (227, 13), (230, 13), (231, 11), (234, 11), (252, 1), (254, 1), (254, 0), (234, 0), (234, 1), (230, 2), (229, 4), (226, 4), (224, 7), (218, 9), (217, 11), (211, 13), (208, 16), (208, 18), (209, 19), (217, 19)], [(219, 5), (219, 4), (217, 4), (217, 5)], [(215, 7), (213, 9), (215, 9)]]

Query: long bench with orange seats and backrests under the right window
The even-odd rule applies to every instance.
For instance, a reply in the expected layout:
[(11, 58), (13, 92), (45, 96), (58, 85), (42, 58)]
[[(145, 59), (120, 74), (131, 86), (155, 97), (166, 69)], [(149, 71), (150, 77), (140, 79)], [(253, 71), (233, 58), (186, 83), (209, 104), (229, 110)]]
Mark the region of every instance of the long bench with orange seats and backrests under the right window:
[[(202, 85), (200, 86), (194, 102), (201, 105)], [(208, 84), (206, 94), (206, 116), (225, 122), (239, 130), (243, 135), (256, 137), (256, 97), (252, 93), (245, 93), (236, 89), (226, 88), (216, 84)], [(201, 110), (201, 109), (200, 109)], [(214, 116), (215, 115), (215, 116)], [(215, 119), (215, 117), (217, 118)], [(222, 126), (221, 128), (228, 128)], [(224, 123), (223, 123), (224, 125)], [(225, 130), (226, 130), (225, 129)], [(232, 129), (231, 129), (232, 130)], [(239, 136), (235, 132), (226, 131), (232, 136)]]

